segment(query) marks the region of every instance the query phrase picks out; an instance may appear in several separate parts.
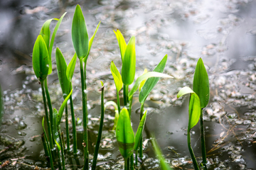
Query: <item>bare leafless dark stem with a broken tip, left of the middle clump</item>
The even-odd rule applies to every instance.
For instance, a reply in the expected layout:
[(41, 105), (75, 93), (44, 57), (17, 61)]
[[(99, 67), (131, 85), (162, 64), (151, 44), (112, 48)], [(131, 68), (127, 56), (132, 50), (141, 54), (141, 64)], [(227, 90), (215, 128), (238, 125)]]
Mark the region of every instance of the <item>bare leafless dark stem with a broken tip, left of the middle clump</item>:
[(102, 86), (100, 91), (102, 91), (102, 94), (101, 94), (100, 128), (99, 128), (99, 132), (98, 132), (98, 136), (97, 136), (97, 142), (96, 142), (95, 152), (94, 152), (93, 161), (92, 161), (92, 170), (96, 169), (97, 155), (98, 155), (99, 149), (100, 149), (100, 140), (101, 140), (101, 136), (102, 136), (102, 128), (103, 128), (103, 121), (104, 121), (104, 86)]

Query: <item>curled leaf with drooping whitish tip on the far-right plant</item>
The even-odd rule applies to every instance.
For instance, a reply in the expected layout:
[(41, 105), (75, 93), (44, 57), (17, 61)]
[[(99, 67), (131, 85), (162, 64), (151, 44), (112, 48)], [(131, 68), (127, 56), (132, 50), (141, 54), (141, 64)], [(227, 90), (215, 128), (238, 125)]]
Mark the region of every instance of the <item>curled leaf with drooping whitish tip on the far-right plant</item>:
[(185, 86), (178, 91), (177, 98), (186, 94), (191, 94), (188, 106), (188, 130), (191, 130), (198, 123), (201, 115), (201, 106), (197, 94), (188, 86)]

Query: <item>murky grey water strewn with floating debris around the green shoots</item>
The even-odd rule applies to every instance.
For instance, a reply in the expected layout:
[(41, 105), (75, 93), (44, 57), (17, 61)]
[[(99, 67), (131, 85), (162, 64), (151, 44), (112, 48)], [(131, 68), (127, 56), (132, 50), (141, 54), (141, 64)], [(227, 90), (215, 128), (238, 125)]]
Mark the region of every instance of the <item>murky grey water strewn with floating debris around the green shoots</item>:
[[(90, 105), (90, 138), (97, 136), (100, 115), (100, 80), (105, 81), (106, 100), (114, 100), (114, 84), (110, 62), (120, 67), (119, 49), (112, 30), (119, 28), (126, 40), (137, 38), (137, 71), (151, 70), (168, 55), (165, 72), (175, 77), (161, 81), (149, 96), (146, 128), (154, 133), (169, 163), (176, 169), (192, 169), (187, 145), (188, 100), (178, 100), (182, 86), (191, 86), (198, 57), (208, 69), (211, 101), (205, 111), (206, 147), (209, 169), (254, 169), (255, 163), (255, 90), (256, 90), (256, 1), (0, 1), (0, 84), (4, 94), (4, 115), (1, 136), (23, 140), (24, 151), (15, 157), (26, 157), (26, 164), (43, 166), (41, 120), (43, 105), (39, 85), (33, 76), (31, 54), (33, 43), (48, 18), (67, 15), (55, 38), (66, 60), (73, 57), (71, 22), (75, 5), (80, 4), (91, 36), (102, 21), (87, 63)], [(52, 23), (54, 27), (55, 23)], [(99, 67), (100, 66), (100, 67)], [(77, 118), (82, 119), (79, 70), (75, 69), (74, 103)], [(62, 100), (56, 70), (49, 76), (53, 106)], [(159, 93), (160, 91), (160, 93)], [(137, 130), (139, 103), (134, 97), (132, 122)], [(107, 110), (100, 162), (118, 169), (118, 148), (114, 140), (111, 116)], [(64, 124), (64, 123), (63, 123)], [(78, 126), (78, 131), (80, 127)], [(201, 160), (200, 131), (192, 130), (191, 143)], [(78, 134), (78, 136), (81, 135)], [(145, 169), (157, 164), (144, 133)], [(81, 143), (81, 142), (80, 142)], [(1, 143), (1, 149), (4, 149)], [(80, 145), (82, 149), (82, 145)], [(91, 151), (92, 152), (92, 151)]]

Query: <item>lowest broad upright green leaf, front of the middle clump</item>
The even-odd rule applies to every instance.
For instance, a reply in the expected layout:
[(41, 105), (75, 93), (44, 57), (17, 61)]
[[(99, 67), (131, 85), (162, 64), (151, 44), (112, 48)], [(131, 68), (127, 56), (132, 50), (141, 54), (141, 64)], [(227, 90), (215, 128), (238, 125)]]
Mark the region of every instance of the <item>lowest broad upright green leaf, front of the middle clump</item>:
[(131, 157), (134, 148), (134, 132), (127, 108), (123, 108), (117, 121), (117, 143), (124, 159)]

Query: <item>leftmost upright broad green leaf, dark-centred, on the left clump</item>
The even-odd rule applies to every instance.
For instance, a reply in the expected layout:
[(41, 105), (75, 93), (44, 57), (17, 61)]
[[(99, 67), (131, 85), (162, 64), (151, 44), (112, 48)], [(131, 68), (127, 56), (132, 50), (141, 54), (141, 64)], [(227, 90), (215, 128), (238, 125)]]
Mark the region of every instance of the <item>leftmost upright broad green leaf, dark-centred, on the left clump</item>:
[(46, 47), (46, 42), (42, 35), (38, 35), (35, 45), (33, 47), (33, 70), (39, 81), (44, 81), (48, 76), (49, 69), (49, 55)]

